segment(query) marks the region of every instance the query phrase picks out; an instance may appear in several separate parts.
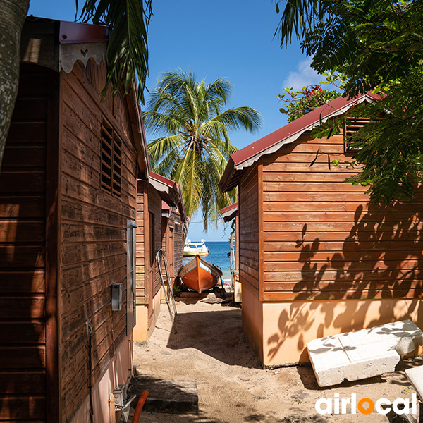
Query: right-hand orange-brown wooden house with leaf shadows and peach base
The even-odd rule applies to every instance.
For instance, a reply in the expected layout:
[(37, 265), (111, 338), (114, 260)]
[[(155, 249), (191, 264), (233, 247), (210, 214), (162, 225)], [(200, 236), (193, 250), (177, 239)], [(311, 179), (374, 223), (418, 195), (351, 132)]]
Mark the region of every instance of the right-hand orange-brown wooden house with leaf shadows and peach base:
[(238, 185), (243, 328), (266, 366), (307, 361), (314, 338), (400, 319), (423, 327), (422, 192), (384, 207), (344, 183), (348, 136), (364, 122), (310, 136), (371, 101), (338, 97), (266, 135), (232, 154), (219, 182)]

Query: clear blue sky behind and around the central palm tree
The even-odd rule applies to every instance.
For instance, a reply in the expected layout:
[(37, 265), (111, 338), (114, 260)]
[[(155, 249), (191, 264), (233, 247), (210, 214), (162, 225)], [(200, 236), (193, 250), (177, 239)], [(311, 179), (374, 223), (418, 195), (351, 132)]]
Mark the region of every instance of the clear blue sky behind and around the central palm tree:
[[(277, 98), (283, 87), (301, 88), (321, 80), (309, 68), (298, 42), (281, 48), (274, 38), (279, 18), (274, 0), (153, 0), (152, 4), (147, 88), (153, 90), (161, 73), (178, 68), (207, 82), (228, 78), (233, 85), (228, 107), (252, 106), (263, 117), (258, 133), (231, 134), (238, 148), (286, 124)], [(28, 13), (74, 20), (75, 1), (31, 0)], [(193, 217), (188, 238), (228, 239), (231, 231), (223, 223), (203, 233), (201, 220), (200, 214)]]

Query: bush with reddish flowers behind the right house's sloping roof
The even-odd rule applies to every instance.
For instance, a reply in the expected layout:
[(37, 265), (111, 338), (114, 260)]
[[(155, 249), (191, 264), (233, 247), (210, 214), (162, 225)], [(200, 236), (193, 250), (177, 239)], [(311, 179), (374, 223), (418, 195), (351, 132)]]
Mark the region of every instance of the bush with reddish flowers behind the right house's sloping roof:
[(335, 90), (324, 90), (320, 85), (309, 85), (299, 91), (294, 91), (293, 87), (283, 88), (283, 91), (285, 94), (279, 94), (278, 99), (282, 100), (285, 107), (281, 107), (279, 111), (288, 115), (288, 122), (295, 121), (340, 95)]

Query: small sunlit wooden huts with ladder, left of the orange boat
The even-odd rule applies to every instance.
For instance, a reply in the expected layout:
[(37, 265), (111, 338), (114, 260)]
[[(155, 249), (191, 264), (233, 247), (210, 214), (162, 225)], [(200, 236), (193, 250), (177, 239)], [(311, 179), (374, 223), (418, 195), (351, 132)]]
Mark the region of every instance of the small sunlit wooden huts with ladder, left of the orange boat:
[[(149, 179), (138, 180), (136, 239), (136, 316), (134, 341), (148, 341), (161, 303), (161, 279), (156, 253), (166, 252), (173, 283), (182, 266), (182, 232), (186, 220), (180, 187), (173, 180), (149, 171)], [(164, 268), (163, 274), (165, 276)]]

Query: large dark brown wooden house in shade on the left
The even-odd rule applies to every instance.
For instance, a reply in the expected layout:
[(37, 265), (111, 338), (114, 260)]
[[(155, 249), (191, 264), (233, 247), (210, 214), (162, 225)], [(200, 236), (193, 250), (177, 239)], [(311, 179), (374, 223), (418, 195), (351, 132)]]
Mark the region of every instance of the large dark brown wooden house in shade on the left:
[(130, 380), (148, 159), (136, 94), (99, 100), (107, 39), (42, 18), (23, 29), (0, 173), (0, 421), (114, 422)]

